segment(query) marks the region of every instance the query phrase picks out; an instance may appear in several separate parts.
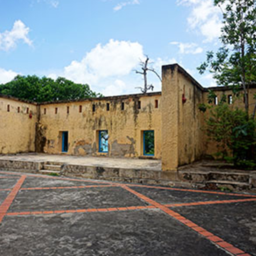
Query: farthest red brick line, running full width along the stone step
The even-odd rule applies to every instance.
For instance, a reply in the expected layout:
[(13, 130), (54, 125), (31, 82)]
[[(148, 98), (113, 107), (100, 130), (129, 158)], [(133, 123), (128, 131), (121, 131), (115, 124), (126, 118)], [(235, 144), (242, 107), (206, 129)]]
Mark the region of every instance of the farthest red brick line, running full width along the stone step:
[[(11, 174), (17, 175), (17, 172), (0, 172), (3, 174)], [(39, 177), (44, 179), (56, 179), (56, 180), (70, 180), (70, 181), (80, 181), (80, 182), (91, 182), (91, 183), (99, 183), (99, 184), (109, 184), (114, 186), (127, 186), (127, 187), (143, 187), (143, 188), (156, 188), (156, 189), (167, 189), (167, 190), (176, 190), (176, 191), (185, 191), (185, 192), (195, 192), (195, 193), (208, 193), (208, 194), (216, 194), (216, 195), (226, 195), (226, 196), (244, 196), (244, 197), (256, 197), (256, 195), (250, 194), (239, 194), (239, 193), (225, 193), (225, 192), (218, 192), (218, 191), (209, 191), (209, 190), (196, 190), (196, 189), (186, 189), (186, 188), (168, 188), (168, 187), (157, 187), (157, 186), (148, 186), (148, 185), (140, 185), (140, 184), (123, 184), (123, 183), (114, 183), (109, 181), (98, 181), (98, 180), (91, 180), (91, 179), (74, 179), (74, 178), (60, 178), (60, 177), (52, 177), (47, 175), (40, 175), (40, 174), (30, 174), (26, 173), (28, 177)]]

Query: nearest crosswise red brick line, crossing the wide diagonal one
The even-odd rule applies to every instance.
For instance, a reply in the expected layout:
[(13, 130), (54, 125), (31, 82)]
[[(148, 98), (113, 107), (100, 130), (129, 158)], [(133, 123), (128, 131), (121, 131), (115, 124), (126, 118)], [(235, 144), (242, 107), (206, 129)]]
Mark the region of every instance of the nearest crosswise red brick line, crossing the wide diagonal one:
[[(181, 207), (181, 206), (191, 206), (191, 205), (205, 205), (205, 204), (229, 204), (236, 202), (251, 202), (256, 201), (254, 198), (249, 199), (238, 199), (238, 200), (223, 200), (223, 201), (203, 201), (203, 202), (193, 202), (193, 203), (180, 203), (180, 204), (164, 204), (166, 207)], [(224, 203), (223, 203), (224, 202)], [(10, 212), (6, 215), (35, 215), (35, 214), (53, 214), (53, 213), (69, 213), (69, 212), (112, 212), (112, 211), (130, 211), (130, 210), (144, 210), (144, 209), (154, 209), (156, 206), (129, 206), (129, 207), (110, 207), (110, 208), (92, 208), (92, 209), (79, 209), (79, 210), (57, 210), (57, 211), (26, 211), (26, 212)]]

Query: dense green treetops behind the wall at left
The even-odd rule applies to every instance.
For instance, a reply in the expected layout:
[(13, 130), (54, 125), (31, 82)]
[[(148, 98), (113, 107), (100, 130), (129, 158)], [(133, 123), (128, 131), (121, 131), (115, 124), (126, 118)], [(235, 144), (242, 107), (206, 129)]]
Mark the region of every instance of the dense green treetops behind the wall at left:
[(101, 97), (88, 84), (76, 84), (64, 77), (56, 80), (38, 76), (16, 76), (11, 82), (0, 84), (0, 94), (36, 102), (77, 100)]

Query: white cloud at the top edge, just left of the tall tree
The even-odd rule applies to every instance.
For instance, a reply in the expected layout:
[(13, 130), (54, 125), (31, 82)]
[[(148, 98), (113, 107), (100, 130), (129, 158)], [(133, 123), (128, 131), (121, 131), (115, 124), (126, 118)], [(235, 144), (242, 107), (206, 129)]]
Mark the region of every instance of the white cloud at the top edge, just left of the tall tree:
[(192, 8), (187, 19), (188, 26), (192, 30), (199, 30), (206, 38), (204, 42), (212, 42), (220, 37), (221, 10), (214, 6), (213, 0), (178, 0), (176, 3)]

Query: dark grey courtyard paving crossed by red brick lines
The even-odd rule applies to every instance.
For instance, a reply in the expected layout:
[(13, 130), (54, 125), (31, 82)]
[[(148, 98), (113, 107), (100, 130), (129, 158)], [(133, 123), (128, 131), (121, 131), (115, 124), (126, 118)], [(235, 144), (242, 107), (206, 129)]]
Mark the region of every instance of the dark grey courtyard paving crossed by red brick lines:
[(0, 172), (3, 256), (255, 256), (256, 195)]

